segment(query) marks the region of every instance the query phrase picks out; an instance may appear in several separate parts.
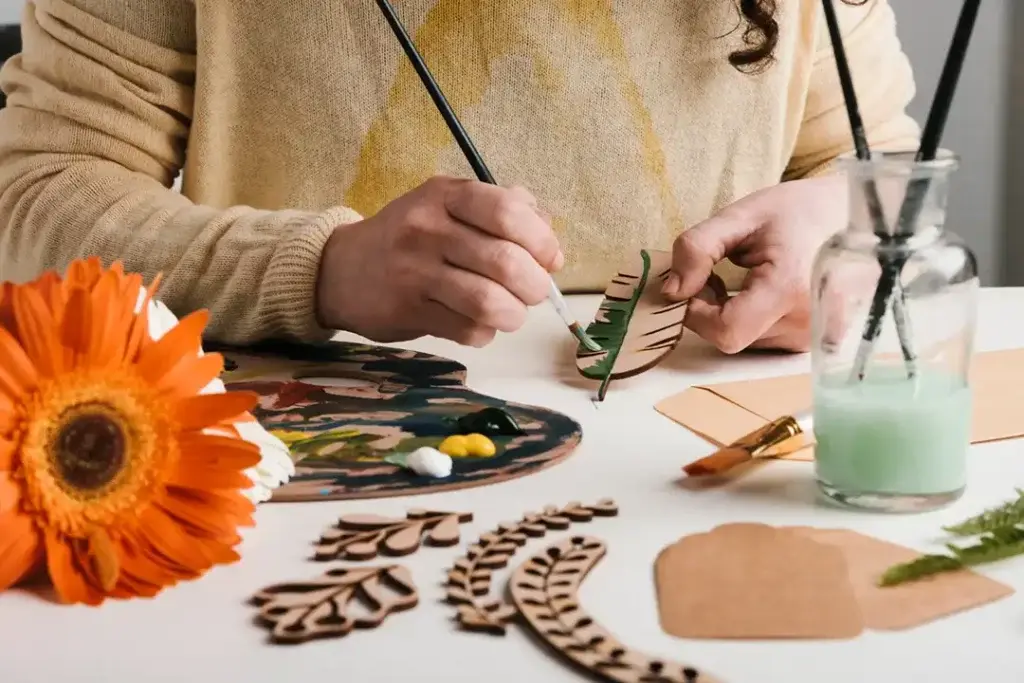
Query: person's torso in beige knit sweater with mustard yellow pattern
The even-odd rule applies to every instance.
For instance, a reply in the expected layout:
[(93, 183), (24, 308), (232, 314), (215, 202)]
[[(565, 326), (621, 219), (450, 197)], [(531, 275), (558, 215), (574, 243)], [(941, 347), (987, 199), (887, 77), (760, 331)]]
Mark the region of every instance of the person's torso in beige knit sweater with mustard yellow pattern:
[[(758, 75), (728, 61), (743, 46), (731, 0), (394, 4), (498, 181), (552, 216), (566, 291), (603, 289), (624, 257), (785, 171), (810, 0), (777, 3)], [(374, 0), (197, 0), (197, 26), (195, 201), (369, 215), (431, 175), (471, 175)]]

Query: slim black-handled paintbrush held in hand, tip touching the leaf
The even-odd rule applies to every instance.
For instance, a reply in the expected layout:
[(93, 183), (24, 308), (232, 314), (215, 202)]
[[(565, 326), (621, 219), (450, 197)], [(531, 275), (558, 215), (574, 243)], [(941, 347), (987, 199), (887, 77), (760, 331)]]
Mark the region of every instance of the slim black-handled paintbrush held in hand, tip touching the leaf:
[[(391, 27), (391, 31), (394, 32), (395, 38), (397, 38), (398, 42), (401, 44), (402, 50), (406, 51), (406, 56), (409, 57), (409, 61), (413, 65), (413, 69), (416, 70), (420, 80), (423, 82), (423, 87), (427, 89), (427, 93), (434, 101), (434, 105), (440, 113), (441, 118), (444, 119), (444, 123), (447, 124), (453, 137), (455, 137), (456, 142), (459, 143), (459, 147), (462, 150), (462, 154), (466, 157), (466, 161), (469, 162), (469, 165), (473, 168), (473, 173), (476, 174), (476, 178), (480, 182), (497, 185), (498, 182), (495, 181), (494, 176), (490, 174), (490, 170), (487, 168), (486, 164), (483, 163), (483, 158), (480, 156), (480, 153), (477, 152), (476, 145), (473, 144), (473, 141), (469, 137), (469, 133), (467, 133), (466, 129), (462, 127), (462, 123), (455, 115), (455, 111), (452, 109), (452, 105), (449, 104), (447, 98), (444, 97), (444, 93), (441, 92), (440, 86), (437, 85), (437, 81), (434, 79), (433, 74), (431, 74), (430, 70), (427, 69), (426, 62), (420, 55), (419, 50), (416, 49), (416, 45), (413, 43), (412, 37), (409, 35), (409, 32), (406, 31), (406, 27), (402, 26), (394, 7), (391, 6), (391, 3), (388, 2), (388, 0), (377, 0), (377, 6), (380, 7), (381, 12), (384, 14), (384, 18), (387, 19), (388, 25)], [(601, 345), (594, 341), (590, 335), (586, 333), (579, 321), (573, 317), (568, 304), (565, 303), (565, 297), (562, 296), (561, 290), (558, 289), (558, 285), (555, 283), (555, 279), (553, 276), (550, 278), (548, 298), (551, 300), (552, 305), (558, 312), (559, 317), (562, 318), (566, 327), (568, 327), (569, 332), (572, 333), (572, 336), (575, 337), (581, 344), (591, 351), (603, 350)]]

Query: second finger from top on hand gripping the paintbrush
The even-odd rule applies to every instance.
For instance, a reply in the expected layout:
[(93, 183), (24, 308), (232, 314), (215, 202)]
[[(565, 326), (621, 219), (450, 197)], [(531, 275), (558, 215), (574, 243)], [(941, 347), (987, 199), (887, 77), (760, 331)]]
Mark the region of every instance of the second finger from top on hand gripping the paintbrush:
[(450, 264), (494, 281), (527, 306), (548, 298), (551, 275), (514, 242), (453, 220), (441, 249)]

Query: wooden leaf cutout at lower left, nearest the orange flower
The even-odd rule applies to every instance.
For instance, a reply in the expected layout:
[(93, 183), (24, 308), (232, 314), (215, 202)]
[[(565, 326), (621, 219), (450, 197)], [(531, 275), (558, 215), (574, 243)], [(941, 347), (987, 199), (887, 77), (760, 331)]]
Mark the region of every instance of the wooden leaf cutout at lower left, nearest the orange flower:
[[(409, 570), (392, 565), (332, 569), (311, 581), (270, 586), (252, 601), (274, 642), (301, 643), (377, 628), (388, 615), (415, 607), (419, 594)], [(349, 613), (353, 604), (361, 607), (357, 615)]]

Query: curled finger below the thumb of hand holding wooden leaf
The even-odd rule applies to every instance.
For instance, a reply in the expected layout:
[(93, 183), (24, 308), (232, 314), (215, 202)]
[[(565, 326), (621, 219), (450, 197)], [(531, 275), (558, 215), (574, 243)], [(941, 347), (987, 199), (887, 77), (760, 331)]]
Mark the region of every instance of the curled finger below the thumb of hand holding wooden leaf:
[(752, 270), (744, 288), (721, 305), (693, 299), (687, 325), (723, 353), (738, 353), (765, 336), (787, 312), (791, 299), (778, 279)]

